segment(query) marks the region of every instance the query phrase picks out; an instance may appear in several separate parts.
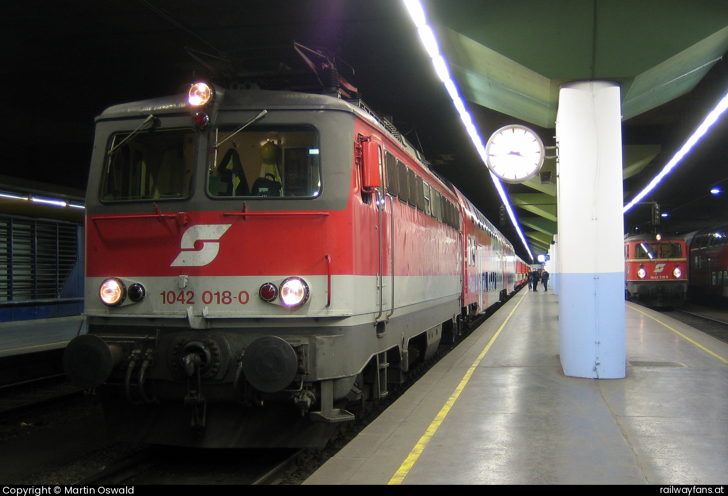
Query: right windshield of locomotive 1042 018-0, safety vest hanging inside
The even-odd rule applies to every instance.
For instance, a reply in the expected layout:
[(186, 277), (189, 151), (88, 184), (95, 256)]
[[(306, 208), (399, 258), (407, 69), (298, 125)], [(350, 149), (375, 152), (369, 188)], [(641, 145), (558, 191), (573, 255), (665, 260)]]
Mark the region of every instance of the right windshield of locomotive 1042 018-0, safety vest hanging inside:
[[(320, 146), (312, 126), (218, 127), (207, 171), (210, 197), (316, 198), (321, 194)], [(237, 131), (237, 132), (236, 132)]]

